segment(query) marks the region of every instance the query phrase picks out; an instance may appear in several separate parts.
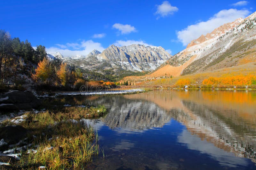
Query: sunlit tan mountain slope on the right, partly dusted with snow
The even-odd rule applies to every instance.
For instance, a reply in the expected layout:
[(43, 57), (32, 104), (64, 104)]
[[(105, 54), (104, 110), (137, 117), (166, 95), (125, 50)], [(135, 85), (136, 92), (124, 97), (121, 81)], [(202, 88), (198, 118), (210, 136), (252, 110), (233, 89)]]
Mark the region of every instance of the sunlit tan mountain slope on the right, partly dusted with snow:
[(173, 55), (146, 76), (124, 81), (144, 81), (165, 75), (179, 76), (237, 67), (256, 61), (256, 12), (214, 29), (192, 40), (186, 49)]

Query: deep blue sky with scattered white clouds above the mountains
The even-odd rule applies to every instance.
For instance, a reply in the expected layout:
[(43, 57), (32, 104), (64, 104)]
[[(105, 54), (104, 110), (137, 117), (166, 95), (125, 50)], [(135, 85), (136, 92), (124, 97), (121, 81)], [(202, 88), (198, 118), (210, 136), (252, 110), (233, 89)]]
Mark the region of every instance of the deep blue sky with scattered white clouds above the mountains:
[(254, 0), (0, 2), (0, 29), (48, 53), (86, 55), (115, 44), (162, 46), (175, 54), (214, 28), (247, 17)]

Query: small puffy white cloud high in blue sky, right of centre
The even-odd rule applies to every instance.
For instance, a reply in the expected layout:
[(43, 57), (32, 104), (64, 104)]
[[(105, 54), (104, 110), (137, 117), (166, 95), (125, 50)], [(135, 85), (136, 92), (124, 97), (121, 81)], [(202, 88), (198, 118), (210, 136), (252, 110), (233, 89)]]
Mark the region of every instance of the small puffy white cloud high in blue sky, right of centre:
[(172, 6), (168, 1), (164, 1), (163, 4), (156, 5), (156, 6), (157, 6), (157, 10), (155, 14), (160, 15), (156, 19), (160, 17), (166, 17), (167, 15), (172, 15), (173, 12), (176, 12), (179, 10), (176, 6)]

